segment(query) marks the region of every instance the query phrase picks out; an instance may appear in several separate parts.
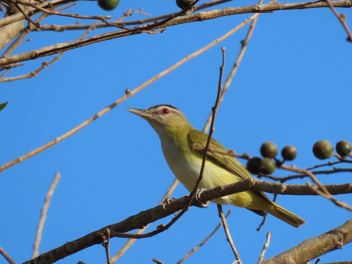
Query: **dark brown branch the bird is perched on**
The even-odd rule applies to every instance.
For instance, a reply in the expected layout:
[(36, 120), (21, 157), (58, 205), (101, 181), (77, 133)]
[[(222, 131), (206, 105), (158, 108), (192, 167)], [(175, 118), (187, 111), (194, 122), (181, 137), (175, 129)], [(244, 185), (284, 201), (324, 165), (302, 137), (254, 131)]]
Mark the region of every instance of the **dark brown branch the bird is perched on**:
[[(348, 186), (347, 186), (348, 185)], [(335, 188), (336, 187), (336, 188)], [(337, 184), (334, 186), (325, 186), (331, 193), (352, 193), (352, 183), (350, 184)], [(222, 196), (238, 193), (246, 190), (257, 190), (266, 191), (271, 193), (279, 194), (298, 194), (298, 195), (317, 195), (314, 191), (309, 189), (305, 185), (298, 184), (279, 184), (274, 182), (259, 181), (254, 178), (249, 178), (240, 182), (228, 184), (226, 186), (218, 186), (212, 189), (204, 190), (200, 199), (202, 201), (213, 200)], [(339, 190), (339, 191), (337, 191)], [(117, 224), (109, 225), (101, 228), (100, 230), (94, 231), (84, 237), (78, 238), (74, 241), (67, 242), (56, 249), (50, 250), (49, 252), (42, 253), (39, 257), (28, 260), (24, 264), (49, 264), (54, 263), (59, 259), (65, 258), (78, 251), (86, 249), (87, 247), (95, 244), (101, 244), (105, 239), (105, 232), (108, 228), (111, 231), (112, 237), (122, 237), (125, 232), (143, 228), (151, 222), (155, 222), (166, 216), (169, 216), (175, 212), (178, 212), (185, 206), (189, 201), (189, 195), (183, 196), (179, 199), (170, 201), (170, 205), (163, 208), (162, 205), (142, 211), (136, 215), (132, 215), (129, 218), (118, 222)], [(192, 205), (198, 205), (195, 201)], [(113, 235), (117, 234), (117, 235)], [(350, 232), (352, 235), (352, 231)], [(132, 235), (134, 234), (130, 234)], [(138, 235), (134, 235), (133, 238), (141, 238)]]

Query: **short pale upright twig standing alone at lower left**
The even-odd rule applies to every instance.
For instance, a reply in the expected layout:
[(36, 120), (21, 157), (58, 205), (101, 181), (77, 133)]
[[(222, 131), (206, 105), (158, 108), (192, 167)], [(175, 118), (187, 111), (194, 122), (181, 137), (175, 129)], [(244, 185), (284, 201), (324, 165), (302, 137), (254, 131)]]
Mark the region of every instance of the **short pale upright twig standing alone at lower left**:
[(40, 210), (40, 218), (37, 226), (36, 238), (34, 239), (34, 243), (33, 243), (32, 259), (38, 256), (40, 239), (42, 239), (42, 232), (43, 232), (43, 227), (46, 219), (46, 212), (48, 212), (51, 196), (54, 194), (55, 187), (60, 177), (61, 176), (59, 173), (55, 173), (54, 179), (52, 180), (49, 186), (48, 193), (45, 196), (44, 205)]

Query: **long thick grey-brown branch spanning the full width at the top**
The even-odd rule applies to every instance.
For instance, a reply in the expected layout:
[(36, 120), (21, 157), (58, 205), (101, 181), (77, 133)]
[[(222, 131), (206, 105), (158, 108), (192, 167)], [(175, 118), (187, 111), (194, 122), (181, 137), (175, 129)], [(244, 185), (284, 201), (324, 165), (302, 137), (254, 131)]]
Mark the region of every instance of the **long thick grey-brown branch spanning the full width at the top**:
[[(345, 0), (333, 1), (332, 4), (334, 7), (352, 7), (352, 2), (345, 1)], [(67, 42), (67, 43), (59, 43), (59, 44), (51, 45), (41, 49), (31, 50), (21, 54), (7, 56), (0, 59), (0, 66), (7, 65), (14, 62), (27, 61), (27, 60), (36, 59), (39, 57), (49, 56), (65, 50), (76, 49), (81, 46), (90, 45), (100, 41), (105, 41), (105, 40), (114, 39), (118, 37), (130, 36), (133, 34), (140, 34), (143, 32), (143, 30), (155, 30), (162, 27), (169, 27), (169, 26), (174, 26), (178, 24), (191, 23), (195, 21), (204, 21), (208, 19), (214, 19), (214, 18), (226, 16), (226, 15), (235, 15), (235, 14), (244, 14), (244, 13), (263, 13), (263, 12), (272, 12), (277, 10), (305, 9), (305, 8), (318, 8), (318, 7), (327, 7), (327, 5), (326, 3), (322, 3), (322, 2), (306, 2), (306, 3), (294, 3), (294, 4), (273, 3), (273, 4), (252, 5), (252, 6), (244, 6), (244, 7), (227, 7), (220, 10), (204, 11), (204, 12), (199, 12), (199, 13), (191, 14), (184, 17), (177, 17), (175, 19), (172, 19), (170, 17), (161, 22), (152, 23), (150, 25), (134, 27), (130, 30), (103, 33), (103, 34), (99, 34), (99, 35), (81, 39), (81, 40), (76, 40), (76, 41)], [(182, 14), (182, 12), (180, 12), (179, 14)], [(172, 20), (168, 21), (169, 19), (172, 19)], [(1, 20), (0, 20), (0, 23), (1, 23)]]

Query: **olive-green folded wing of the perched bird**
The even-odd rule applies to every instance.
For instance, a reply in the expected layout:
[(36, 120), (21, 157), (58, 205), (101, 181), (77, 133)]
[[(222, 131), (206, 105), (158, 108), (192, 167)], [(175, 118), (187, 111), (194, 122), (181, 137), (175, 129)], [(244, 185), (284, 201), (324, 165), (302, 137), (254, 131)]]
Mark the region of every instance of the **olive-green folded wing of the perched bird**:
[[(205, 147), (207, 144), (208, 135), (198, 130), (192, 130), (188, 133), (188, 138), (192, 143), (199, 144)], [(247, 169), (236, 158), (226, 154), (222, 154), (227, 153), (227, 149), (213, 138), (210, 140), (210, 150), (216, 152), (208, 151), (207, 155), (214, 158), (217, 162), (223, 165), (226, 169), (230, 170), (232, 173), (243, 178), (243, 180), (252, 177), (247, 171)], [(260, 194), (260, 196), (262, 196), (265, 200), (272, 203), (272, 201), (269, 199), (268, 196), (266, 196), (265, 193), (263, 193), (262, 191), (257, 191), (257, 193)]]

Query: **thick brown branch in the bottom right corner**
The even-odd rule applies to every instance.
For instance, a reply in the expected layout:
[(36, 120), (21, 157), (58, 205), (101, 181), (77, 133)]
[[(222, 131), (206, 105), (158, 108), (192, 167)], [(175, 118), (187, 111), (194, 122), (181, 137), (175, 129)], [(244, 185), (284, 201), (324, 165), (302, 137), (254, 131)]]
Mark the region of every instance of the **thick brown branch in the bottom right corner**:
[(301, 244), (278, 254), (261, 264), (305, 263), (352, 241), (352, 219), (317, 237), (304, 240)]

